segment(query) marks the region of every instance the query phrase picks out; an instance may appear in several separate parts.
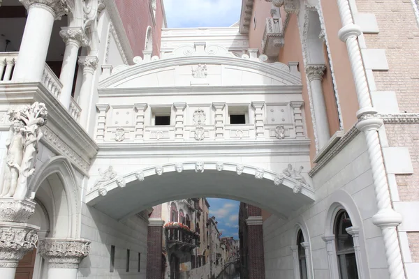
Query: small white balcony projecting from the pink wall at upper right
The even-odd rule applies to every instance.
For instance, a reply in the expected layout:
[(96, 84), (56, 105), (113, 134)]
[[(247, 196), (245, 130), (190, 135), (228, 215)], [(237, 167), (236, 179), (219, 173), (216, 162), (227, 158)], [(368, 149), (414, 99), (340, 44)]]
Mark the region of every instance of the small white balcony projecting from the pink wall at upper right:
[(278, 56), (284, 46), (282, 22), (278, 18), (267, 17), (265, 31), (262, 37), (262, 52), (267, 56)]

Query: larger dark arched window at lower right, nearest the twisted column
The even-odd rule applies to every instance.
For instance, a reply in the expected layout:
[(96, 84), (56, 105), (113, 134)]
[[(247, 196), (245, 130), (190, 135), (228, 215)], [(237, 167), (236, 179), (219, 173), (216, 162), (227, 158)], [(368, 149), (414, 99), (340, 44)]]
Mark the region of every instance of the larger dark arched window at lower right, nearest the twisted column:
[(353, 238), (346, 229), (352, 227), (351, 218), (345, 210), (338, 211), (335, 219), (335, 245), (340, 279), (358, 279)]

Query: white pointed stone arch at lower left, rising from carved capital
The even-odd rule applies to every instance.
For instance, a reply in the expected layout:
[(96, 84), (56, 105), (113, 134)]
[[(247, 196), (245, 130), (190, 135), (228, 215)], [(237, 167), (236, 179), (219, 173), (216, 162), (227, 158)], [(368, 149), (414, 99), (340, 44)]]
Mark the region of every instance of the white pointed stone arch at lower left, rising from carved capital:
[(50, 219), (50, 237), (77, 238), (80, 234), (80, 197), (73, 167), (64, 156), (44, 163), (29, 183)]

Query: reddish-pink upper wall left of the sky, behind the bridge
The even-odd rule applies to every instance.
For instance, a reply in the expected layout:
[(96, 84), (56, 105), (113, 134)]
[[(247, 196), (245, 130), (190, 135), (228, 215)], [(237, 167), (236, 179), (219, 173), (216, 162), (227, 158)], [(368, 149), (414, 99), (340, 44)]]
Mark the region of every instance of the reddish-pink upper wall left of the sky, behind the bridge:
[(153, 30), (153, 55), (159, 55), (161, 42), (161, 27), (163, 26), (163, 9), (161, 1), (156, 0), (156, 25), (152, 22), (152, 15), (147, 0), (115, 0), (119, 15), (134, 56), (142, 56), (145, 47), (147, 27)]

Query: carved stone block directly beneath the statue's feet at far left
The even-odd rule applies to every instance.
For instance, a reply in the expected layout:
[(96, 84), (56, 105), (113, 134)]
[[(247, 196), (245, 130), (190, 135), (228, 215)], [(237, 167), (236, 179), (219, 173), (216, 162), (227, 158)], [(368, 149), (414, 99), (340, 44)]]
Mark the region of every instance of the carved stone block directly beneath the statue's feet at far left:
[(28, 199), (15, 201), (13, 198), (0, 199), (0, 221), (27, 223), (35, 212), (35, 202)]

